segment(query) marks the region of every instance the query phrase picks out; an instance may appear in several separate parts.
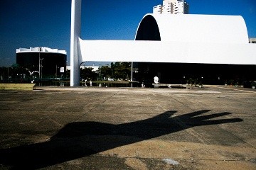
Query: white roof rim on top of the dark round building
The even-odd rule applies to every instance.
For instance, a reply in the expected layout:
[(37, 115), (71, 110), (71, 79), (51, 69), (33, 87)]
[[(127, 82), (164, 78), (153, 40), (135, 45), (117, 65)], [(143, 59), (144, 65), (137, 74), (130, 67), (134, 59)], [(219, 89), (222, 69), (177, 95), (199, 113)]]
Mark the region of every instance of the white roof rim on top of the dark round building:
[(60, 53), (63, 55), (67, 55), (65, 50), (51, 49), (49, 47), (30, 47), (30, 48), (18, 48), (16, 49), (16, 53), (19, 52), (51, 52), (51, 53)]

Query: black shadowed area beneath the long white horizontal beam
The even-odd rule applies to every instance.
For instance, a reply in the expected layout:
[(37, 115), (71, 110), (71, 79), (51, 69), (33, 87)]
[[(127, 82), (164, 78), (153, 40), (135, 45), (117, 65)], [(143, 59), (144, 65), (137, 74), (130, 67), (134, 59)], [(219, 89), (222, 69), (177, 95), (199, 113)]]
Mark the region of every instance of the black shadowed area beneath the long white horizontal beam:
[(250, 86), (256, 79), (256, 65), (243, 64), (193, 64), (193, 63), (134, 63), (137, 73), (134, 80), (151, 86), (154, 77), (161, 84), (240, 84)]

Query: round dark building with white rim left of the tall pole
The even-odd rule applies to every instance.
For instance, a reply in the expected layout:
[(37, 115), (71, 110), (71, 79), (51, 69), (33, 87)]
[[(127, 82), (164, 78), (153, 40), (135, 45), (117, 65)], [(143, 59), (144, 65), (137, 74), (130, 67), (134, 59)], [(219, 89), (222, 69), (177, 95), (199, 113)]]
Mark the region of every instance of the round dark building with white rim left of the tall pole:
[(48, 47), (16, 49), (16, 64), (42, 76), (58, 76), (66, 70), (67, 52)]

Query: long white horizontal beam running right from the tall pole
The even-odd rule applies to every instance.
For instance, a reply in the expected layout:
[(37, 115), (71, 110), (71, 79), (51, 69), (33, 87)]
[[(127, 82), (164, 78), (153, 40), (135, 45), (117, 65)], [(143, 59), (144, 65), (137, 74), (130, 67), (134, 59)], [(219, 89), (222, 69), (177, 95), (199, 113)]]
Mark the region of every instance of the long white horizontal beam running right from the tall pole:
[(256, 64), (255, 44), (81, 40), (82, 61)]

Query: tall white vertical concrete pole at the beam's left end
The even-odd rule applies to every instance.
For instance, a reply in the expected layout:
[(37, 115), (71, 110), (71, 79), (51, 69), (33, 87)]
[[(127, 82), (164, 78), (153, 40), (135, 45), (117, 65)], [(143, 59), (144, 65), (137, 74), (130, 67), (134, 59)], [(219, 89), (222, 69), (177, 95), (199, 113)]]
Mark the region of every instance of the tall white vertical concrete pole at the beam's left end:
[(72, 0), (71, 4), (70, 86), (79, 86), (80, 82), (78, 38), (81, 34), (81, 2)]

